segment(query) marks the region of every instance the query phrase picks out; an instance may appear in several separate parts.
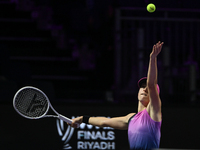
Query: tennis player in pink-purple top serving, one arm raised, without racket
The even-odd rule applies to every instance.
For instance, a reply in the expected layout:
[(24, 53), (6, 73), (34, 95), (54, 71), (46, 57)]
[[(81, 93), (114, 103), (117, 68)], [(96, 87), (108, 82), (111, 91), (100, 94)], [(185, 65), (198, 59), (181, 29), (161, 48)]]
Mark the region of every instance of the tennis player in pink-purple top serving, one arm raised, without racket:
[(89, 117), (81, 116), (72, 119), (72, 127), (76, 123), (91, 124), (99, 127), (112, 127), (128, 130), (131, 150), (150, 150), (159, 148), (161, 137), (161, 100), (157, 84), (157, 56), (161, 52), (163, 42), (156, 43), (150, 54), (147, 77), (138, 81), (138, 112), (123, 117)]

